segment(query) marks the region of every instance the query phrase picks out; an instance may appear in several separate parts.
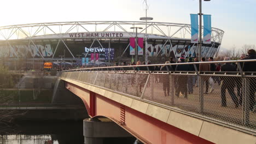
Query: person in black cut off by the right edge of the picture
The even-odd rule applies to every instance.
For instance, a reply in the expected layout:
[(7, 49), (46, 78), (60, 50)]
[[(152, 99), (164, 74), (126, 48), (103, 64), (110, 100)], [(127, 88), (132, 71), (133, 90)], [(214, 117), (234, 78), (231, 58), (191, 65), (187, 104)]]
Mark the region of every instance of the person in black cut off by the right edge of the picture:
[[(248, 50), (248, 56), (243, 59), (256, 59), (256, 51)], [(243, 71), (256, 71), (256, 62), (245, 62), (243, 64)], [(249, 79), (249, 109), (252, 111), (255, 105), (256, 79), (253, 77)]]

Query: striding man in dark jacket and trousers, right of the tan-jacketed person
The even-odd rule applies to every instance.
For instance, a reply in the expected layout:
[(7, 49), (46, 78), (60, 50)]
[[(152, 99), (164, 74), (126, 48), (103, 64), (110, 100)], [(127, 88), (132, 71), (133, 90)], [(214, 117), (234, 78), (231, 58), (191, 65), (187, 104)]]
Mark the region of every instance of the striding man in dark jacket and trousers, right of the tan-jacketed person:
[[(229, 61), (229, 57), (225, 57), (224, 61)], [(220, 67), (220, 71), (236, 71), (235, 65), (232, 65), (231, 63), (225, 63)], [(238, 107), (238, 99), (236, 97), (236, 94), (234, 92), (235, 88), (235, 79), (232, 79), (233, 77), (226, 77), (223, 76), (222, 80), (222, 86), (220, 89), (221, 97), (222, 97), (222, 106), (226, 106), (226, 89), (228, 89), (229, 95), (231, 96), (231, 99), (235, 103), (235, 107)]]

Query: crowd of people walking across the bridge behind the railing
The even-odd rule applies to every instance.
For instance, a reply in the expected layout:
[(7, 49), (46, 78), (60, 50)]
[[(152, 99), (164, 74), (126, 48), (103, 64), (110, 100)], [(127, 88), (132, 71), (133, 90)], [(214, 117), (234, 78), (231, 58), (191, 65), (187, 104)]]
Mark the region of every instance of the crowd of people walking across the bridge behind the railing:
[[(256, 59), (256, 52), (255, 50), (251, 49), (248, 50), (248, 55), (246, 56), (244, 53), (241, 54), (240, 59)], [(176, 63), (172, 57), (168, 59), (169, 61), (165, 61), (165, 64), (169, 63)], [(206, 58), (202, 57), (201, 62), (205, 62)], [(208, 58), (208, 61), (214, 61), (213, 57)], [(229, 57), (225, 57), (224, 61), (230, 61)], [(188, 64), (182, 64), (182, 65), (162, 65), (160, 67), (152, 67), (148, 66), (148, 69), (150, 71), (225, 71), (226, 73), (232, 73), (234, 71), (240, 71), (240, 68), (243, 72), (253, 72), (256, 71), (256, 62), (241, 62), (239, 63), (240, 68), (238, 67), (237, 63), (200, 63), (195, 64), (196, 67), (194, 67), (193, 64), (189, 64), (191, 62), (199, 62), (198, 58), (188, 58), (187, 59)], [(180, 57), (178, 59), (177, 63), (186, 63), (186, 60), (184, 57)], [(121, 65), (145, 65), (145, 62), (138, 61), (136, 64), (135, 62), (131, 64), (126, 64), (126, 62), (123, 62)], [(150, 61), (148, 61), (148, 64), (151, 64)], [(118, 66), (119, 64), (116, 63), (115, 66)], [(136, 70), (148, 70), (147, 67), (136, 67)], [(128, 70), (127, 68), (120, 68), (120, 70)], [(176, 76), (176, 79), (171, 80), (163, 80), (163, 90), (165, 93), (165, 96), (170, 95), (170, 81), (175, 85), (175, 94), (177, 97), (179, 97), (180, 93), (184, 95), (185, 98), (188, 97), (188, 94), (193, 93), (193, 87), (199, 86), (199, 77), (198, 76), (187, 76), (187, 75), (179, 75)], [(217, 83), (220, 86), (220, 93), (221, 93), (221, 99), (222, 104), (221, 106), (226, 106), (226, 90), (228, 90), (228, 93), (231, 96), (232, 101), (235, 104), (235, 107), (238, 107), (239, 105), (242, 105), (242, 79), (241, 77), (229, 77), (229, 76), (202, 76), (201, 77), (201, 84), (205, 85), (205, 88), (203, 88), (204, 94), (209, 94), (214, 91), (214, 84)], [(255, 92), (256, 92), (256, 79), (248, 79), (249, 83), (249, 109), (253, 110), (253, 107), (255, 105)], [(210, 87), (210, 91), (209, 91)], [(235, 87), (237, 88), (237, 94), (235, 94)]]

